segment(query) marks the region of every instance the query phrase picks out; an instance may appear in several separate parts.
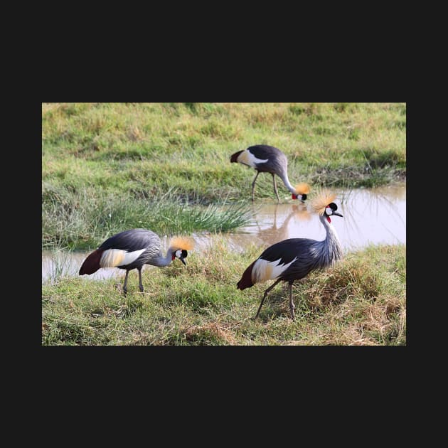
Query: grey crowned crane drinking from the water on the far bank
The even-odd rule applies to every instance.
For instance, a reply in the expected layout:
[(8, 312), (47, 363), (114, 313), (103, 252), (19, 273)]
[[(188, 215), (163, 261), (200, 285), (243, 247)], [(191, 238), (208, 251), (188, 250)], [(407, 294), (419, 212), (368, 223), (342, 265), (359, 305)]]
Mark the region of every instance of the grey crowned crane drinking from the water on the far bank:
[(252, 201), (255, 199), (255, 181), (260, 173), (272, 174), (272, 182), (274, 183), (274, 191), (277, 196), (277, 201), (280, 202), (279, 193), (277, 191), (277, 183), (275, 175), (282, 179), (284, 185), (292, 193), (293, 199), (305, 201), (306, 195), (309, 193), (309, 185), (306, 183), (299, 183), (297, 186), (292, 186), (288, 178), (288, 159), (282, 151), (269, 146), (267, 144), (256, 144), (249, 146), (243, 151), (235, 152), (230, 156), (230, 162), (240, 163), (250, 166), (257, 171), (255, 179), (252, 182)]

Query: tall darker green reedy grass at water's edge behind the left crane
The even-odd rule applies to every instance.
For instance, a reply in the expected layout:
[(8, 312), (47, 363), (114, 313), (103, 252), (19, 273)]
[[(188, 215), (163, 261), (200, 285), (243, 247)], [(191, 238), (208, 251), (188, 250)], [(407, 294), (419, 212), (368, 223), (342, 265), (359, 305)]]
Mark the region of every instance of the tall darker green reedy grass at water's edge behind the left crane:
[(151, 198), (126, 195), (97, 196), (82, 188), (44, 188), (42, 246), (90, 249), (115, 233), (131, 228), (148, 228), (159, 235), (193, 233), (201, 230), (228, 232), (252, 218), (247, 203), (220, 206), (182, 202), (176, 191)]

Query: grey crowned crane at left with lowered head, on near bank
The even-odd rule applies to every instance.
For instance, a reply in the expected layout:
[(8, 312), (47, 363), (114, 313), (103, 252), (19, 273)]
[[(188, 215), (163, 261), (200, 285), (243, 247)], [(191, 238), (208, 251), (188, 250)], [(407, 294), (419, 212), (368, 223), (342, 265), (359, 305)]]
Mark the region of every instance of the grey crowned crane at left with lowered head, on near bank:
[(193, 249), (193, 241), (186, 237), (171, 238), (166, 256), (161, 252), (159, 235), (146, 229), (131, 229), (117, 233), (105, 240), (82, 263), (80, 275), (93, 274), (101, 267), (119, 267), (126, 270), (123, 292), (127, 294), (127, 276), (129, 271), (139, 272), (140, 292), (144, 292), (142, 284), (143, 265), (164, 267), (178, 258), (186, 265), (187, 250)]

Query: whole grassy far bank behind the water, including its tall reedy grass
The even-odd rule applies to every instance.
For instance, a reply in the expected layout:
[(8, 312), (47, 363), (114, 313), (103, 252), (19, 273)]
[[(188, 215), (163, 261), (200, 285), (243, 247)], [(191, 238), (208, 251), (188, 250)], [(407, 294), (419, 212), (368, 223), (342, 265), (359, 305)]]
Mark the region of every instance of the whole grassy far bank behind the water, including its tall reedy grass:
[[(43, 247), (93, 247), (123, 228), (238, 227), (255, 170), (230, 155), (252, 144), (282, 149), (293, 184), (403, 180), (406, 105), (43, 103)], [(287, 199), (281, 182), (279, 193)], [(257, 198), (274, 198), (270, 176), (258, 177)], [(236, 208), (210, 219), (207, 207), (223, 203)]]

